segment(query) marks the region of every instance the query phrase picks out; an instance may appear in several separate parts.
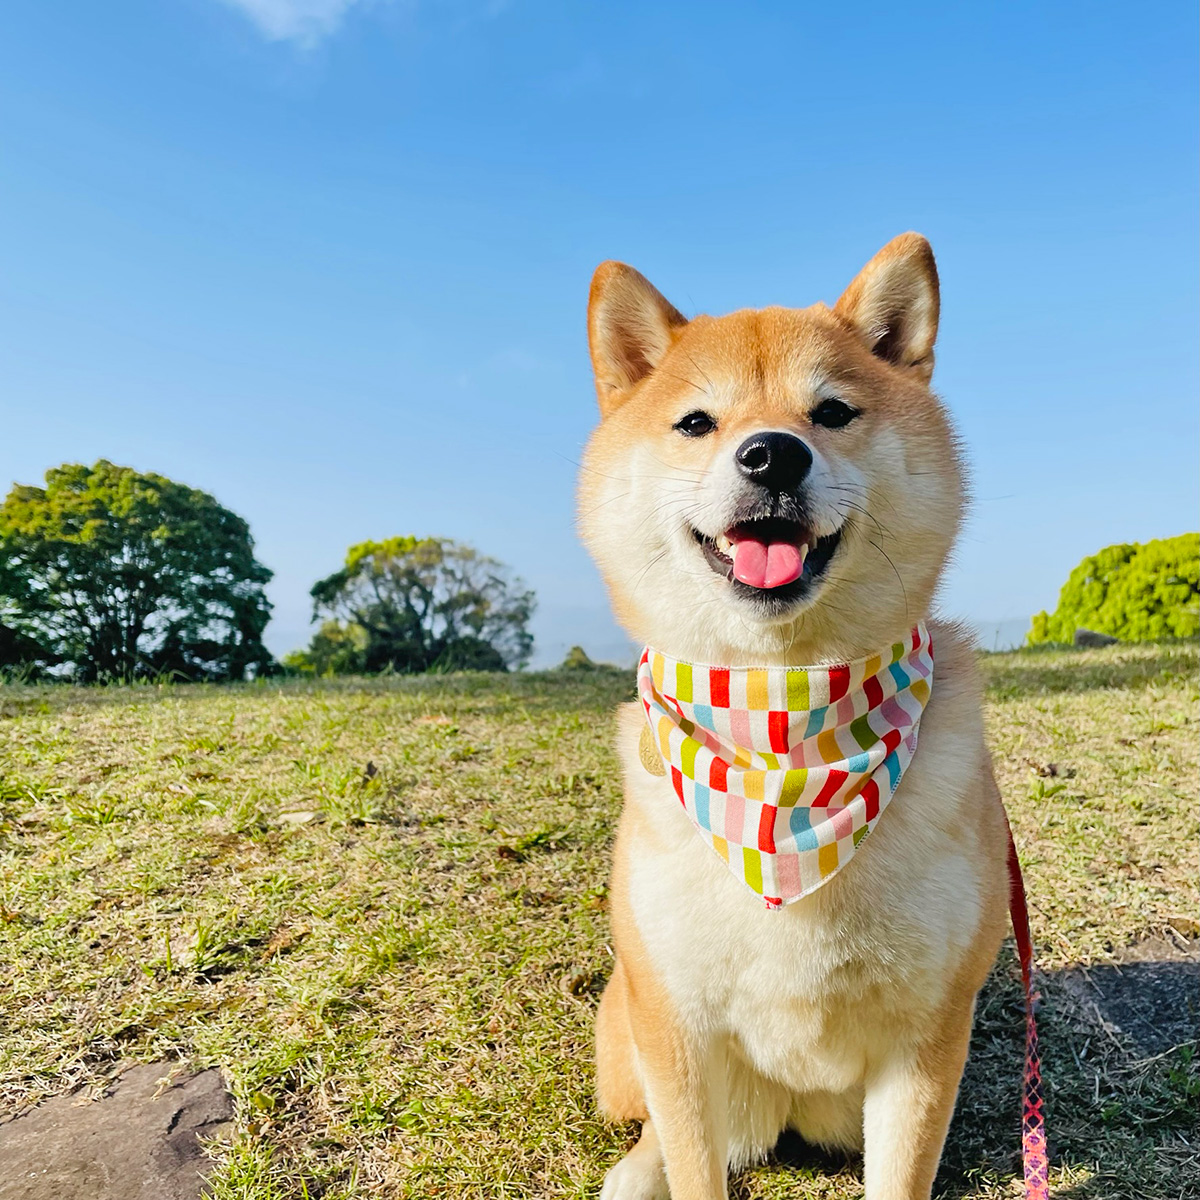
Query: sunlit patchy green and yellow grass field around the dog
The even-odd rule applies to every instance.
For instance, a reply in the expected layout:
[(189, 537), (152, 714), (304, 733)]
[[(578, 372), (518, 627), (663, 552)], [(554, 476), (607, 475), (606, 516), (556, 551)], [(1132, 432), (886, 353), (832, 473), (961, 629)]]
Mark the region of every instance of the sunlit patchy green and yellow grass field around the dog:
[[(1068, 986), (1194, 953), (1196, 649), (984, 668), (1056, 1194), (1198, 1195), (1194, 1044), (1146, 1054)], [(235, 1094), (218, 1196), (594, 1195), (634, 1133), (590, 1064), (631, 695), (605, 670), (0, 689), (4, 1109), (170, 1058)], [(1020, 1055), (1006, 952), (941, 1195), (1015, 1194)], [(732, 1194), (860, 1194), (853, 1163), (782, 1158)]]

